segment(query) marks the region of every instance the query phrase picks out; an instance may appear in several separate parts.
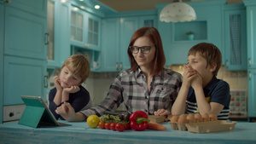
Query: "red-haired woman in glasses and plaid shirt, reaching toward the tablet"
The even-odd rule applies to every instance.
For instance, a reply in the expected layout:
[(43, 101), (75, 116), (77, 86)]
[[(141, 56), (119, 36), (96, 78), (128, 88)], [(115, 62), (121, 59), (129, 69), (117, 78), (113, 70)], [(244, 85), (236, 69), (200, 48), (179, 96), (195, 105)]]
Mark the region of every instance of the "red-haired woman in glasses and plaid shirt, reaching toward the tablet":
[(160, 33), (154, 27), (134, 32), (127, 49), (131, 68), (119, 72), (108, 95), (98, 106), (75, 113), (69, 103), (56, 109), (67, 121), (84, 121), (92, 114), (115, 111), (124, 102), (127, 112), (169, 115), (182, 84), (182, 75), (164, 68), (166, 57)]

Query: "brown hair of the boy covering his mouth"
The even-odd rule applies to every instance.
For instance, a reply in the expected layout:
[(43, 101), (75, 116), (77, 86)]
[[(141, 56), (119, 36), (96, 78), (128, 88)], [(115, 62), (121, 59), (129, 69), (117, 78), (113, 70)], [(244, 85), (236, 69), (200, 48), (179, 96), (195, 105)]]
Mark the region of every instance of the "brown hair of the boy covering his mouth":
[(217, 46), (212, 43), (198, 43), (189, 49), (189, 55), (195, 55), (199, 53), (204, 59), (207, 60), (207, 66), (216, 63), (216, 69), (212, 72), (213, 75), (217, 76), (218, 70), (222, 64), (222, 55)]

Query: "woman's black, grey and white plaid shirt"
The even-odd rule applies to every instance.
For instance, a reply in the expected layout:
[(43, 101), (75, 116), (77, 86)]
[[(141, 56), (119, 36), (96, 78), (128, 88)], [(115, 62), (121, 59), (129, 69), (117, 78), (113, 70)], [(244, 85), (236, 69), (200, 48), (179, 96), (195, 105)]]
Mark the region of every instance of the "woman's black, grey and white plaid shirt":
[(146, 77), (139, 68), (133, 72), (125, 70), (114, 78), (105, 100), (82, 113), (86, 117), (91, 114), (101, 116), (106, 110), (115, 111), (122, 102), (128, 112), (144, 111), (154, 114), (158, 109), (171, 112), (181, 84), (181, 74), (164, 69), (152, 79), (148, 90)]

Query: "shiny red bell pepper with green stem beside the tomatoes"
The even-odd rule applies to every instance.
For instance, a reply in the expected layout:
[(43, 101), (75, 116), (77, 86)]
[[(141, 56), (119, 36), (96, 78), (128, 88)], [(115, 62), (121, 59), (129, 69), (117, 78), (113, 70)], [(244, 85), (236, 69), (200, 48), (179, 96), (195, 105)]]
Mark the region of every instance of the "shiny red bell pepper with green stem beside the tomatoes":
[(148, 127), (148, 114), (143, 111), (137, 111), (131, 113), (129, 118), (130, 120), (130, 127), (132, 130), (142, 131), (147, 129)]

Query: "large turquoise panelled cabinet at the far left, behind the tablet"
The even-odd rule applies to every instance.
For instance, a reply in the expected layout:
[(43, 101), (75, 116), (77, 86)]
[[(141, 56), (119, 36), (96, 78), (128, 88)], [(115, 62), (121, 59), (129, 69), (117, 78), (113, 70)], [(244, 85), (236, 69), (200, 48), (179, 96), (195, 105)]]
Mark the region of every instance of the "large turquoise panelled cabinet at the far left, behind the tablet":
[[(45, 0), (1, 2), (0, 107), (23, 104), (20, 95), (45, 100), (47, 7)], [(3, 111), (0, 111), (3, 122)]]

